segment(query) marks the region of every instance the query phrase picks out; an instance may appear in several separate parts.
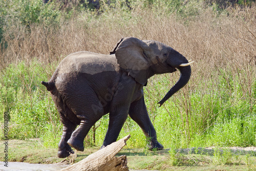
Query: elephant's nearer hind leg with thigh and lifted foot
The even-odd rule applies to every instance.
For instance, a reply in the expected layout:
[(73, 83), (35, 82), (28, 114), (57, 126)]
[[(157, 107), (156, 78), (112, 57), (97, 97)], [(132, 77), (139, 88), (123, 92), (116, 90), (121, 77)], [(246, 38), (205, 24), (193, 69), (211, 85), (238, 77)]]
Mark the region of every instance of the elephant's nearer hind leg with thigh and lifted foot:
[(83, 140), (91, 127), (103, 116), (103, 106), (90, 86), (83, 85), (83, 89), (72, 89), (69, 94), (72, 96), (67, 98), (66, 104), (80, 122), (68, 144), (78, 151), (83, 151)]

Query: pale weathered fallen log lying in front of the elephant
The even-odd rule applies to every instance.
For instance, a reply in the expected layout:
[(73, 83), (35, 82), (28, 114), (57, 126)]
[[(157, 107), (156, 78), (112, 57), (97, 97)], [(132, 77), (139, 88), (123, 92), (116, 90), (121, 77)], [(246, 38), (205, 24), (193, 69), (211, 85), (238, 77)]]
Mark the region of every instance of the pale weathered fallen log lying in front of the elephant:
[(127, 159), (125, 155), (115, 157), (115, 155), (126, 145), (126, 141), (131, 137), (127, 135), (126, 137), (120, 139), (117, 142), (100, 149), (99, 151), (89, 155), (87, 158), (79, 161), (78, 163), (72, 164), (67, 168), (61, 170), (76, 170), (76, 171), (119, 171), (119, 170), (129, 170), (127, 167)]

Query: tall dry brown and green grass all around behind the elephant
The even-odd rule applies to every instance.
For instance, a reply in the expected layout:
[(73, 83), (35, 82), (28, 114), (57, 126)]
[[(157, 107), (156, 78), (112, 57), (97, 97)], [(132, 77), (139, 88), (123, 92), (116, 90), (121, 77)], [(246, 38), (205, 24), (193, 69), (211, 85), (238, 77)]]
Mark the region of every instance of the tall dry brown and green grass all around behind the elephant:
[[(145, 2), (150, 1), (133, 2), (131, 9), (122, 3), (104, 6), (100, 14), (83, 11), (57, 25), (37, 23), (28, 28), (12, 23), (4, 31), (6, 47), (0, 52), (0, 110), (10, 114), (9, 136), (59, 139), (58, 114), (40, 81), (49, 79), (57, 63), (72, 52), (108, 54), (121, 37), (134, 36), (161, 41), (196, 61), (187, 86), (161, 108), (157, 102), (179, 73), (155, 75), (144, 88), (159, 142), (165, 147), (256, 145), (255, 4), (219, 11), (200, 1), (175, 10), (165, 1)], [(86, 139), (90, 145), (102, 143), (108, 116), (96, 126), (95, 144), (93, 131)], [(24, 136), (29, 131), (31, 136)], [(132, 135), (129, 147), (145, 145), (142, 131), (130, 118), (120, 137), (126, 134)]]

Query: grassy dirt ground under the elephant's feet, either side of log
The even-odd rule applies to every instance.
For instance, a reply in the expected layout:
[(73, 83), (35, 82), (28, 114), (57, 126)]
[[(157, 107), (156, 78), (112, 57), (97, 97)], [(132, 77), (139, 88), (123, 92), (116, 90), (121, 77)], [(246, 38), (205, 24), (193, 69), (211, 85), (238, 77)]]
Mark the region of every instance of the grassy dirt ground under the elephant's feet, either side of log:
[[(5, 141), (0, 141), (4, 152)], [(39, 139), (8, 140), (8, 162), (41, 164), (72, 164), (98, 151), (99, 147), (85, 148), (77, 157), (57, 157), (57, 148), (46, 148)], [(217, 153), (218, 152), (218, 153)], [(4, 161), (5, 153), (0, 160)], [(256, 147), (193, 147), (151, 152), (147, 149), (125, 149), (117, 156), (126, 155), (130, 170), (256, 170)]]

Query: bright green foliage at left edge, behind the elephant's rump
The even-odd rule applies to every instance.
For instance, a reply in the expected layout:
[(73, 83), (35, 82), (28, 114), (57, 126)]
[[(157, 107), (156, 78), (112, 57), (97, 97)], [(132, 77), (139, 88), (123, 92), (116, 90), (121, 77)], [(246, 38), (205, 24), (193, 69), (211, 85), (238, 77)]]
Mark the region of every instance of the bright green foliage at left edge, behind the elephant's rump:
[(56, 137), (60, 132), (62, 125), (54, 103), (46, 91), (41, 91), (39, 83), (47, 79), (41, 68), (42, 64), (36, 61), (29, 66), (22, 61), (17, 66), (9, 65), (1, 73), (0, 110), (8, 112), (10, 117), (9, 139), (40, 138), (46, 134)]

